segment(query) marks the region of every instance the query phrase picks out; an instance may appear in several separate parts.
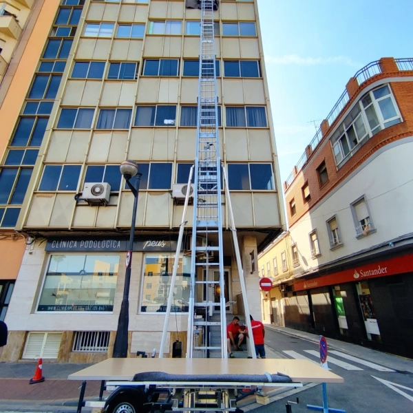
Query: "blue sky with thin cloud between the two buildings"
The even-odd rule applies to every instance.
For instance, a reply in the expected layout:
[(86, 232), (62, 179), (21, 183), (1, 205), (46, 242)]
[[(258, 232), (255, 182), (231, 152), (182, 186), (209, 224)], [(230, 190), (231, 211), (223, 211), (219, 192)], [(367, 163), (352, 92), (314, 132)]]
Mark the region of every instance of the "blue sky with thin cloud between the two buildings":
[(357, 70), (413, 57), (413, 0), (257, 0), (282, 182)]

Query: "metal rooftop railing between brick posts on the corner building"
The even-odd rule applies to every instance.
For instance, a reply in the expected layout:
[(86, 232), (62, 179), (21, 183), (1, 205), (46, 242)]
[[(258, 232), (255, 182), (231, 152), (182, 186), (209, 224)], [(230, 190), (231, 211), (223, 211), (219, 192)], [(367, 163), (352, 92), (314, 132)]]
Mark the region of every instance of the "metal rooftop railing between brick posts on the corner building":
[[(396, 62), (397, 67), (399, 70), (413, 70), (413, 58), (407, 58), (407, 59), (394, 59)], [(357, 79), (357, 83), (359, 86), (366, 82), (368, 79), (370, 79), (372, 76), (375, 76), (376, 74), (381, 73), (381, 66), (380, 66), (380, 61), (374, 61), (369, 63), (368, 65), (364, 66), (361, 68), (356, 74), (354, 74), (353, 78)], [(331, 126), (334, 121), (337, 119), (341, 111), (346, 107), (348, 101), (350, 100), (350, 96), (348, 96), (347, 89), (341, 94), (339, 97), (339, 100), (337, 100), (337, 103), (334, 105), (334, 107), (331, 109), (330, 113), (327, 115), (326, 119), (328, 121), (328, 125)], [(312, 151), (315, 151), (321, 140), (323, 139), (323, 134), (321, 133), (321, 128), (317, 130), (317, 133), (315, 134), (313, 140), (310, 142), (310, 147)], [(301, 158), (299, 158), (299, 161), (297, 162), (296, 168), (297, 168), (297, 173), (301, 171), (301, 169), (306, 165), (307, 162), (307, 154), (306, 152), (301, 155)], [(286, 179), (286, 188), (290, 186), (290, 184), (293, 183), (293, 180), (295, 178), (295, 175), (293, 172), (290, 173), (288, 178)]]

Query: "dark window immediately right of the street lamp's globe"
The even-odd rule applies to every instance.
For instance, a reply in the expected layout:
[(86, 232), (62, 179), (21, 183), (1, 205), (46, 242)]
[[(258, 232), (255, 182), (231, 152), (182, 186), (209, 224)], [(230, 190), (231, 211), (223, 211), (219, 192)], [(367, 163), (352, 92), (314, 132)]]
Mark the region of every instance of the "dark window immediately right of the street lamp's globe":
[[(139, 189), (171, 189), (172, 164), (170, 162), (138, 163), (138, 167), (139, 172), (142, 173)], [(131, 183), (135, 184), (135, 179), (131, 178)]]

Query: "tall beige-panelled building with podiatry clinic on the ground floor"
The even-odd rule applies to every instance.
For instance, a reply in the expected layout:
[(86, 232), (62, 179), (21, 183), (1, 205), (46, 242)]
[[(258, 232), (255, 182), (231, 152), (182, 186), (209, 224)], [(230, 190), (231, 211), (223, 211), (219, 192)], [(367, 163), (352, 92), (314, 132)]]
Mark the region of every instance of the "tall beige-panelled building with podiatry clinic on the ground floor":
[[(257, 3), (215, 5), (220, 156), (248, 305), (259, 318), (255, 260), (283, 231), (284, 212)], [(18, 99), (0, 111), (8, 121), (0, 225), (27, 235), (6, 314), (4, 360), (98, 361), (112, 354), (134, 204), (119, 171), (126, 159), (138, 162), (142, 173), (129, 351), (159, 351), (184, 185), (195, 158), (198, 6), (183, 0), (43, 2), (35, 47), (25, 47), (15, 62), (4, 102), (16, 99), (15, 90)], [(222, 199), (224, 294), (228, 312), (237, 314), (240, 277), (229, 202)], [(187, 340), (192, 213), (189, 206), (166, 353), (173, 340)], [(218, 277), (209, 271), (209, 279)], [(217, 303), (211, 311), (218, 311), (220, 288), (205, 284), (200, 293), (207, 289)]]

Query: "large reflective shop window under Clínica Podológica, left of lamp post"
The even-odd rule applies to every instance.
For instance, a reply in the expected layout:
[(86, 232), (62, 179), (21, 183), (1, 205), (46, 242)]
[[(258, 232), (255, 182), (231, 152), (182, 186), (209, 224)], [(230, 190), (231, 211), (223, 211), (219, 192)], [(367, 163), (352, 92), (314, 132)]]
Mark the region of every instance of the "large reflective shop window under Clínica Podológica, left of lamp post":
[(119, 255), (52, 255), (37, 311), (113, 311)]

